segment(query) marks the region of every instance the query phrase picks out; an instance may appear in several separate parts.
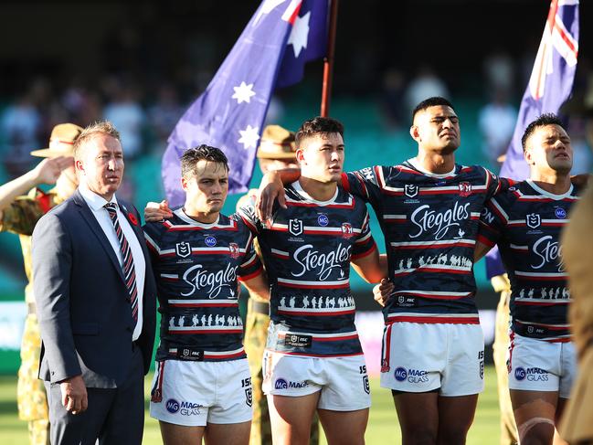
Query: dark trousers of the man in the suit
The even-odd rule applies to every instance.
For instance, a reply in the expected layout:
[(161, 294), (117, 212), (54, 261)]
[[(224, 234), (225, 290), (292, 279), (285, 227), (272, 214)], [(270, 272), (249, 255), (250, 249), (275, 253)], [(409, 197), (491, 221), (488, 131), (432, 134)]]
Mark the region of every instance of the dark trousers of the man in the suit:
[[(130, 371), (115, 388), (87, 387), (89, 408), (73, 415), (61, 403), (58, 383), (46, 382), (52, 445), (140, 445), (144, 429), (143, 355), (133, 348)], [(109, 358), (107, 358), (109, 359)]]

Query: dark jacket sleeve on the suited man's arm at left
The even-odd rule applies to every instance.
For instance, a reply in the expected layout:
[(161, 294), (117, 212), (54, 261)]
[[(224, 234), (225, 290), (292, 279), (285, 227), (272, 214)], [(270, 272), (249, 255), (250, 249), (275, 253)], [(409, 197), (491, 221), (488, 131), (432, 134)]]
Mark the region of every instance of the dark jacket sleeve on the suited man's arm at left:
[(70, 324), (72, 240), (65, 217), (49, 212), (33, 230), (33, 286), (51, 382), (81, 374)]

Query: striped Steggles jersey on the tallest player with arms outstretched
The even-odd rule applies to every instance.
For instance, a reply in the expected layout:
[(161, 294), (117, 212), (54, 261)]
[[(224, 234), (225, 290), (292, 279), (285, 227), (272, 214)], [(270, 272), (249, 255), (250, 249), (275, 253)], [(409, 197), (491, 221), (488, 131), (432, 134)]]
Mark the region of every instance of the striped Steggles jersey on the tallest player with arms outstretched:
[(386, 323), (480, 323), (473, 251), (484, 203), (507, 180), (478, 165), (434, 175), (408, 160), (343, 174), (342, 183), (371, 204), (385, 235), (395, 284)]

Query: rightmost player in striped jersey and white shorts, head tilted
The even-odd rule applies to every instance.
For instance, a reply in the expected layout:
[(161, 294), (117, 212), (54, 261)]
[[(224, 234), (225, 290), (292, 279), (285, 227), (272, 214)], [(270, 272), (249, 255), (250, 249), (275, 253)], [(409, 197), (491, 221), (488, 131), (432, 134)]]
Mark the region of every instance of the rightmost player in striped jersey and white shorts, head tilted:
[(498, 244), (511, 281), (507, 363), (519, 441), (549, 444), (577, 367), (559, 238), (579, 190), (571, 184), (570, 138), (554, 114), (531, 122), (522, 144), (530, 178), (487, 204), (476, 255)]

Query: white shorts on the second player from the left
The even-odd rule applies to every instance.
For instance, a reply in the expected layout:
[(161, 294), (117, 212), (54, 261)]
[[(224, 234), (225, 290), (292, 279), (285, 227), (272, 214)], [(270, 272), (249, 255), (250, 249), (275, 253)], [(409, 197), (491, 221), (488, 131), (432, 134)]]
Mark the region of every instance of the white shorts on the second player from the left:
[(321, 391), (317, 408), (355, 411), (371, 406), (365, 355), (303, 357), (266, 350), (263, 392), (302, 397)]

